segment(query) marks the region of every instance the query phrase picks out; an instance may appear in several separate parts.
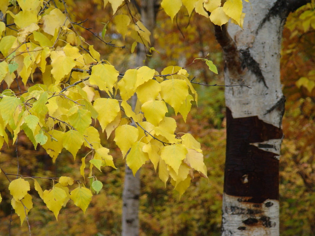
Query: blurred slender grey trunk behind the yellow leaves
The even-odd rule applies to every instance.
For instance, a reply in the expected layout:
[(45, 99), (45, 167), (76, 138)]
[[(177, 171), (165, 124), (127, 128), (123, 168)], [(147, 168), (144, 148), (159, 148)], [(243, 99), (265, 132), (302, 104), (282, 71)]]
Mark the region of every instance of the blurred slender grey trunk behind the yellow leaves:
[[(141, 22), (151, 32), (151, 46), (154, 43), (153, 30), (155, 27), (155, 18), (157, 13), (156, 0), (142, 0), (141, 5), (137, 5), (133, 1), (136, 8), (140, 11)], [(146, 51), (144, 45), (138, 44), (137, 55), (134, 67), (147, 65)], [(145, 60), (145, 63), (143, 62)], [(135, 108), (136, 97), (131, 98), (131, 106)], [(140, 170), (135, 176), (131, 169), (125, 166), (125, 180), (123, 188), (123, 216), (122, 216), (122, 236), (138, 236), (139, 235), (139, 196), (140, 196)]]

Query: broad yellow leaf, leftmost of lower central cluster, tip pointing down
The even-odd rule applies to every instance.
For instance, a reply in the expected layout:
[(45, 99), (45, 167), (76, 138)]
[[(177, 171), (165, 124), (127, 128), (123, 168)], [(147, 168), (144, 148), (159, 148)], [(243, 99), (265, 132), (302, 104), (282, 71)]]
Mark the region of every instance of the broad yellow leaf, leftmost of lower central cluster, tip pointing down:
[(120, 148), (123, 158), (131, 148), (132, 144), (138, 139), (139, 131), (136, 127), (131, 125), (121, 125), (115, 130), (115, 138), (117, 146)]

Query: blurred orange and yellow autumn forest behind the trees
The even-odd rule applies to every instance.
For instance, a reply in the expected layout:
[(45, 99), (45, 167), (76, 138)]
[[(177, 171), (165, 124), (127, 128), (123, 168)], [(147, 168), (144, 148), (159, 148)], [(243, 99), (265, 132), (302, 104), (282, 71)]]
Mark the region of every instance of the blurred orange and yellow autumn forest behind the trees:
[[(125, 71), (133, 68), (135, 53), (130, 54), (132, 41), (117, 34), (110, 6), (101, 7), (100, 0), (68, 1), (73, 17), (85, 20), (84, 26), (94, 32), (101, 32), (110, 22), (105, 41), (126, 48), (113, 48), (99, 41), (90, 32), (82, 29), (81, 35), (108, 60)], [(78, 7), (79, 6), (79, 7)], [(132, 9), (136, 12), (136, 9)], [(137, 15), (135, 15), (137, 16)], [(209, 71), (203, 63), (191, 66), (190, 74), (203, 84), (224, 84), (221, 48), (215, 41), (209, 20), (196, 13), (189, 17), (181, 9), (174, 19), (159, 11), (154, 31), (157, 51), (153, 51), (148, 66), (162, 70), (169, 65), (186, 66), (195, 58), (209, 53), (218, 67), (218, 75)], [(100, 33), (101, 34), (101, 33)], [(291, 14), (284, 28), (281, 57), (281, 78), (286, 97), (283, 120), (284, 140), (280, 159), (280, 234), (315, 235), (315, 14), (314, 6), (306, 5)], [(36, 80), (36, 78), (35, 78)], [(5, 88), (3, 88), (5, 89)], [(173, 115), (181, 132), (190, 132), (201, 144), (204, 162), (208, 168), (209, 180), (196, 174), (191, 186), (178, 199), (178, 193), (171, 185), (156, 178), (152, 164), (141, 168), (140, 235), (202, 236), (220, 235), (221, 202), (223, 192), (223, 168), (225, 159), (225, 104), (224, 87), (195, 85), (199, 94), (198, 107), (194, 104), (186, 123)], [(29, 213), (33, 235), (102, 236), (120, 235), (122, 214), (122, 191), (125, 160), (106, 134), (101, 142), (111, 150), (117, 169), (105, 167), (99, 179), (104, 187), (92, 199), (85, 215), (74, 205), (67, 205), (60, 211), (58, 222), (54, 214), (31, 193), (34, 205)], [(82, 148), (79, 157), (86, 150)], [(20, 173), (28, 176), (74, 176), (80, 165), (80, 158), (73, 160), (65, 151), (52, 163), (45, 150), (33, 144), (25, 135), (19, 135), (17, 145), (3, 146), (0, 163), (8, 172), (14, 172), (11, 159), (19, 156)], [(69, 164), (71, 163), (71, 164)], [(5, 178), (1, 175), (0, 178)], [(4, 181), (4, 180), (3, 180)], [(43, 179), (38, 180), (45, 186)], [(48, 184), (48, 182), (47, 182)], [(8, 235), (11, 222), (12, 235), (26, 235), (27, 224), (20, 226), (16, 214), (11, 216), (10, 195), (6, 186), (0, 186), (3, 202), (0, 208), (0, 236)], [(31, 190), (34, 191), (34, 190)], [(35, 192), (35, 191), (34, 191)]]

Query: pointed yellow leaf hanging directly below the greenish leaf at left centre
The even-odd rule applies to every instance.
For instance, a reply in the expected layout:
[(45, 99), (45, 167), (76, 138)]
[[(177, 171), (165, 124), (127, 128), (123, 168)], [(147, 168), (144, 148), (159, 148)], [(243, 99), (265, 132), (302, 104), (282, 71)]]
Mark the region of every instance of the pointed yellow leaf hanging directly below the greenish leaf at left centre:
[(77, 151), (81, 148), (83, 144), (83, 135), (75, 130), (69, 130), (62, 137), (62, 144), (65, 149), (67, 149), (76, 159)]

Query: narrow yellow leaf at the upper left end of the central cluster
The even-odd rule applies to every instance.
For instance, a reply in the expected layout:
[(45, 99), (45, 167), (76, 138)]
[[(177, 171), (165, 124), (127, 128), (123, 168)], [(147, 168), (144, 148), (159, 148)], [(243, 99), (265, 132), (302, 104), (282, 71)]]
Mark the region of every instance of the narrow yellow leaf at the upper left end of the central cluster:
[(125, 72), (123, 78), (118, 82), (118, 88), (120, 90), (120, 96), (123, 100), (127, 101), (132, 95), (134, 95), (135, 82), (137, 81), (137, 70), (129, 69)]

